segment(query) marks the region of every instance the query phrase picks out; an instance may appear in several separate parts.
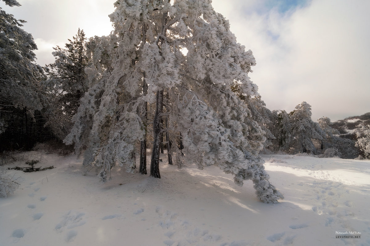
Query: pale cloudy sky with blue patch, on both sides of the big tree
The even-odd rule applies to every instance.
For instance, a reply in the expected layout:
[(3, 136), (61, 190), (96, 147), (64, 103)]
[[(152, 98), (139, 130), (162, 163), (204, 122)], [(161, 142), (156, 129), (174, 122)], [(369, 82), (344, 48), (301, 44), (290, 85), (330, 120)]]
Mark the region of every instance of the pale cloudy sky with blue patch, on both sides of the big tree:
[[(78, 28), (87, 37), (108, 35), (110, 0), (18, 0), (0, 7), (24, 19), (38, 50), (37, 63), (53, 63)], [(332, 122), (370, 112), (369, 0), (213, 0), (237, 41), (252, 50), (251, 80), (270, 110), (292, 111), (303, 101), (312, 119)]]

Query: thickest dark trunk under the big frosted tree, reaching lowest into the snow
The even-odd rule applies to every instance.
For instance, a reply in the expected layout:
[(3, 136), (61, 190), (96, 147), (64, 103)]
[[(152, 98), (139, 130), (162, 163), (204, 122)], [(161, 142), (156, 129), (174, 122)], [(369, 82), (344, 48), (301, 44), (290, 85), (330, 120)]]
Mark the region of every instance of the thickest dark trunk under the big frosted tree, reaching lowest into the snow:
[(161, 178), (159, 174), (159, 154), (161, 151), (162, 134), (161, 134), (161, 113), (163, 108), (163, 90), (157, 91), (157, 107), (153, 119), (153, 151), (150, 162), (150, 176)]

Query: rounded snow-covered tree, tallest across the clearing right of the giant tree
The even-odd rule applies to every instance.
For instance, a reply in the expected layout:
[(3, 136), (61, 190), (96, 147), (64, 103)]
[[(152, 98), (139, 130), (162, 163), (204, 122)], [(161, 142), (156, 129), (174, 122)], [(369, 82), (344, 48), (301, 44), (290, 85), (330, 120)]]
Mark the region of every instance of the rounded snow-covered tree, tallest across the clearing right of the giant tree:
[(296, 109), (290, 112), (290, 123), (292, 124), (292, 141), (290, 146), (295, 152), (317, 154), (313, 144), (313, 139), (322, 141), (325, 137), (324, 132), (317, 122), (311, 119), (311, 105), (302, 102), (296, 106)]

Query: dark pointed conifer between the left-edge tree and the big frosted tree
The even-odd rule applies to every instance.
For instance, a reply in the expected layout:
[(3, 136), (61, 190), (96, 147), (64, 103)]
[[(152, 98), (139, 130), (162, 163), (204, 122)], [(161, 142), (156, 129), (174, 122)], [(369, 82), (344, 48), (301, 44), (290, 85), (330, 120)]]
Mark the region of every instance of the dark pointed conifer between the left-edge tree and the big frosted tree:
[(64, 139), (71, 130), (71, 118), (77, 113), (80, 98), (88, 89), (85, 68), (90, 65), (84, 31), (78, 29), (73, 40), (68, 41), (65, 48), (54, 48), (55, 61), (47, 66), (48, 79), (43, 82), (51, 105), (48, 125), (60, 139)]

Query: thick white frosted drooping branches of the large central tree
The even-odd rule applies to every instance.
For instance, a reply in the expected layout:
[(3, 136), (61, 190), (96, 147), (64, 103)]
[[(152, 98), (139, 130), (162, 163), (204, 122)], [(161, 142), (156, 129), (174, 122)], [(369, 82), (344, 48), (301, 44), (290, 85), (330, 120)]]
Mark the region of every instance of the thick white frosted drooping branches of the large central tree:
[(265, 132), (231, 90), (237, 82), (243, 94), (258, 96), (248, 77), (255, 59), (211, 1), (122, 0), (115, 7), (111, 36), (91, 40), (90, 74), (97, 79), (65, 139), (85, 150), (84, 164), (100, 166), (103, 182), (114, 165), (132, 171), (135, 144), (152, 132), (151, 176), (159, 178), (159, 139), (168, 132), (174, 141), (182, 138), (184, 156), (176, 159), (217, 165), (238, 185), (251, 179), (263, 202), (282, 199), (258, 156)]

